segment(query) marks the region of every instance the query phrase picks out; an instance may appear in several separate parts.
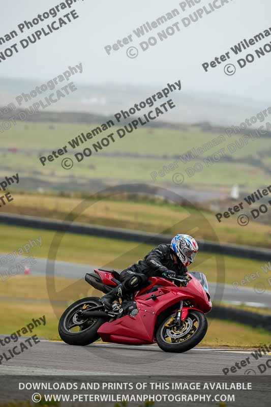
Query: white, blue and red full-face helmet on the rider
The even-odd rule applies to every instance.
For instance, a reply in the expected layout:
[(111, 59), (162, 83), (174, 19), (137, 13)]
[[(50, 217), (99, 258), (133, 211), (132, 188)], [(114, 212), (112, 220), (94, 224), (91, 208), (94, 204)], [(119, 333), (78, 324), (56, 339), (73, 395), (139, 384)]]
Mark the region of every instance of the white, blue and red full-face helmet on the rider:
[(176, 253), (185, 267), (193, 263), (198, 252), (198, 244), (189, 235), (176, 235), (171, 240), (170, 248)]

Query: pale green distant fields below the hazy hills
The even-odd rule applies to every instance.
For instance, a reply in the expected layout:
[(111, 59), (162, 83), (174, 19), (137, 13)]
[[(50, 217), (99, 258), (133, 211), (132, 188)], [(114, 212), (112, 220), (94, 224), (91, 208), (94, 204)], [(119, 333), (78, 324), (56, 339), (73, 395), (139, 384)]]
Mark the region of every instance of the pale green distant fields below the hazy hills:
[[(64, 157), (74, 159), (76, 151), (82, 151), (85, 147), (91, 147), (93, 142), (100, 141), (115, 128), (101, 133), (82, 144), (76, 150), (68, 148), (68, 154), (42, 166), (39, 157), (43, 154), (48, 155), (49, 151), (57, 150), (63, 146), (68, 146), (68, 141), (81, 132), (87, 133), (96, 128), (97, 124), (50, 124), (50, 123), (18, 123), (9, 131), (4, 132), (1, 137), (3, 145), (6, 148), (17, 148), (17, 153), (2, 153), (2, 169), (0, 176), (6, 176), (8, 172), (14, 172), (14, 162), (16, 162), (16, 172), (27, 179), (35, 178), (48, 183), (47, 188), (53, 188), (53, 183), (61, 184), (73, 182), (76, 178), (77, 185), (80, 183), (85, 187), (86, 183), (91, 187), (92, 180), (106, 182), (144, 182), (153, 183), (151, 173), (159, 171), (163, 166), (177, 162), (177, 171), (183, 172), (186, 176), (183, 186), (185, 187), (203, 187), (208, 185), (231, 187), (237, 183), (243, 188), (258, 188), (260, 185), (269, 183), (269, 172), (263, 164), (268, 160), (271, 151), (271, 140), (269, 138), (259, 138), (249, 141), (247, 146), (237, 149), (235, 153), (230, 154), (228, 144), (234, 144), (239, 140), (240, 135), (233, 135), (230, 138), (224, 134), (225, 142), (219, 146), (205, 152), (195, 160), (184, 164), (173, 156), (185, 154), (192, 148), (201, 147), (204, 143), (215, 139), (219, 134), (202, 132), (197, 127), (188, 127), (188, 131), (172, 130), (168, 128), (142, 128), (127, 134), (123, 138), (115, 135), (115, 142), (111, 142), (108, 147), (98, 153), (93, 153), (91, 157), (85, 158), (78, 163), (74, 160), (74, 167), (71, 170), (64, 170), (61, 161)], [(168, 141), (170, 140), (170, 142)], [(232, 158), (233, 162), (218, 161), (213, 165), (206, 166), (201, 159), (217, 153), (225, 148), (225, 154)], [(45, 153), (45, 150), (48, 151)], [(103, 156), (101, 153), (121, 153), (138, 154), (139, 157), (118, 157)], [(146, 154), (153, 155), (153, 158), (146, 157)], [(257, 164), (252, 163), (252, 158), (258, 160)], [(247, 159), (248, 161), (240, 161)], [(200, 162), (203, 170), (189, 177), (186, 170)], [(260, 164), (259, 164), (260, 163)], [(158, 177), (155, 184), (174, 186), (172, 184), (172, 175), (174, 171), (169, 171), (163, 177)], [(71, 187), (76, 188), (76, 185)], [(64, 188), (63, 188), (64, 189)]]

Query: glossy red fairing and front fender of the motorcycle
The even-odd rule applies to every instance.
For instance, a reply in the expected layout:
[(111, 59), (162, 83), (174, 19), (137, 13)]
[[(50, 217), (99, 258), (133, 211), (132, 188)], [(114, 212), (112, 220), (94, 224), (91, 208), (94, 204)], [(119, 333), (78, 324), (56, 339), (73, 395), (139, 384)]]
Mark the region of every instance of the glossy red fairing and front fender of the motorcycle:
[[(134, 300), (138, 308), (135, 316), (125, 315), (115, 321), (107, 322), (99, 328), (98, 333), (103, 341), (137, 345), (154, 343), (157, 317), (171, 305), (176, 304), (177, 309), (181, 300), (189, 300), (193, 305), (192, 309), (203, 313), (212, 309), (208, 295), (194, 277), (185, 288), (179, 288), (161, 277), (150, 277), (149, 282), (150, 285), (135, 293)], [(155, 285), (159, 285), (159, 287), (154, 292), (146, 293)], [(151, 294), (156, 296), (155, 300), (150, 298)], [(188, 307), (183, 308), (183, 320), (189, 309)]]

